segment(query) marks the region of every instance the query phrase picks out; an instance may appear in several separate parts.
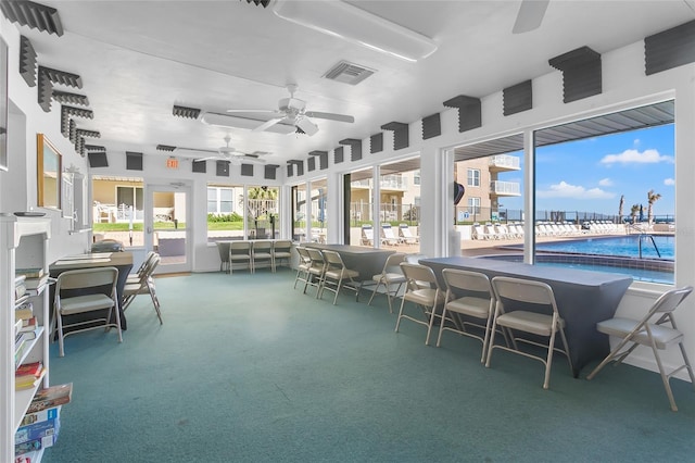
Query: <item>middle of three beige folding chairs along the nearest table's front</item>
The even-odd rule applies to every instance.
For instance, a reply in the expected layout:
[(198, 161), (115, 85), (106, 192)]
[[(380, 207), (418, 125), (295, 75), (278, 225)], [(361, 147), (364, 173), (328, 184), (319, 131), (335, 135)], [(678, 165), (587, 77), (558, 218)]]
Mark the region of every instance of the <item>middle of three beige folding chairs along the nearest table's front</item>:
[[(483, 273), (455, 268), (444, 268), (442, 271), (442, 277), (446, 284), (446, 297), (444, 298), (442, 324), (440, 325), (439, 336), (437, 337), (437, 347), (441, 345), (442, 333), (444, 330), (478, 339), (482, 342), (480, 363), (483, 363), (485, 361), (488, 341), (490, 340), (492, 316), (495, 310), (495, 297), (492, 291), (492, 286), (490, 285), (490, 278)], [(457, 292), (459, 293), (458, 296)], [(454, 312), (478, 318), (482, 325), (454, 318), (456, 326), (447, 326), (444, 323), (446, 312)], [(466, 329), (466, 325), (482, 329), (483, 335), (479, 336), (476, 331)]]

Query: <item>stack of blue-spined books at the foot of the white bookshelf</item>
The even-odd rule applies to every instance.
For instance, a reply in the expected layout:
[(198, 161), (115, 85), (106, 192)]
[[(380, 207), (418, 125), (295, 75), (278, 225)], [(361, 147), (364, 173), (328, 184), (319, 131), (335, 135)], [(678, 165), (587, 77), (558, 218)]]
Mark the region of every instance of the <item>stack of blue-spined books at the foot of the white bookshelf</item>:
[(30, 454), (55, 443), (61, 425), (60, 405), (68, 403), (72, 393), (72, 383), (51, 386), (36, 393), (14, 435), (15, 455)]

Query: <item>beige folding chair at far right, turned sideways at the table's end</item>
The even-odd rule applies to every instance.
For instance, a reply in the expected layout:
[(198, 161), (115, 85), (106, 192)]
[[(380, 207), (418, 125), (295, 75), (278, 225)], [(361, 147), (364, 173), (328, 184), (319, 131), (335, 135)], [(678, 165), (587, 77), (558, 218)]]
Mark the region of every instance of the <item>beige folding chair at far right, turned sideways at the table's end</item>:
[[(671, 403), (671, 410), (678, 412), (669, 380), (675, 373), (685, 368), (691, 377), (691, 384), (695, 387), (695, 375), (693, 375), (693, 367), (685, 354), (685, 347), (683, 346), (684, 336), (675, 325), (673, 312), (691, 292), (693, 292), (692, 286), (675, 288), (665, 292), (654, 302), (642, 320), (614, 317), (597, 323), (596, 329), (601, 333), (621, 338), (621, 340), (603, 362), (591, 372), (586, 379), (592, 379), (596, 376), (608, 362), (614, 361), (616, 364), (621, 363), (637, 346), (647, 346), (654, 352), (666, 395), (669, 397), (669, 402)], [(681, 349), (683, 364), (667, 374), (661, 358), (659, 356), (659, 350), (665, 350), (673, 345), (678, 345)]]

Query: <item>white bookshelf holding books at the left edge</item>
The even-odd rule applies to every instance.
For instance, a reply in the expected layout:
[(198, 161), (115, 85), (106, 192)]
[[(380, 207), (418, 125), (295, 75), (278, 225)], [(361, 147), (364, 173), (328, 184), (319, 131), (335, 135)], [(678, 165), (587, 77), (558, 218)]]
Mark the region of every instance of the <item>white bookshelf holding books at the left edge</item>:
[[(41, 361), (47, 368), (42, 383), (33, 389), (14, 390), (14, 271), (43, 267), (48, 273), (51, 221), (43, 217), (0, 216), (0, 461), (14, 461), (14, 434), (36, 390), (49, 385), (49, 290), (39, 288), (29, 299), (43, 329), (25, 350), (21, 363)], [(40, 454), (39, 454), (40, 458)], [(34, 461), (34, 460), (33, 460)]]

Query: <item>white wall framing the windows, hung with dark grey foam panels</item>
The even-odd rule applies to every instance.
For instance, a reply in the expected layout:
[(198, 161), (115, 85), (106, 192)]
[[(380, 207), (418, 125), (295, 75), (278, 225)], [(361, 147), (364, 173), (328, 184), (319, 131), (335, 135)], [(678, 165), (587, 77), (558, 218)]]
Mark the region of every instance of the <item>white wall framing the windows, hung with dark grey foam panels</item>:
[[(86, 172), (87, 165), (84, 159), (75, 154), (70, 142), (60, 134), (60, 110), (58, 104), (50, 113), (43, 113), (36, 102), (36, 88), (29, 88), (17, 73), (18, 33), (3, 18), (0, 20), (0, 33), (10, 45), (10, 95), (12, 102), (20, 114), (13, 115), (12, 121), (25, 117), (25, 127), (20, 130), (11, 127), (13, 151), (11, 153), (10, 173), (0, 173), (0, 205), (2, 211), (26, 209), (36, 204), (36, 133), (45, 133), (58, 145), (63, 152), (64, 165), (75, 164), (80, 172)], [(39, 57), (40, 61), (40, 57)], [(330, 210), (337, 210), (342, 204), (340, 200), (341, 188), (332, 183), (339, 183), (341, 175), (361, 167), (382, 163), (395, 158), (413, 154), (421, 155), (421, 204), (422, 220), (419, 230), (421, 238), (421, 252), (430, 256), (445, 255), (448, 250), (448, 234), (453, 229), (450, 214), (451, 188), (447, 186), (453, 179), (451, 155), (447, 149), (468, 145), (486, 139), (556, 125), (591, 115), (612, 112), (630, 105), (645, 104), (660, 99), (673, 98), (677, 100), (675, 117), (675, 155), (677, 155), (677, 200), (675, 212), (677, 226), (677, 267), (675, 284), (692, 285), (695, 283), (695, 210), (691, 207), (695, 197), (695, 65), (688, 64), (656, 75), (644, 74), (644, 46), (636, 42), (620, 50), (607, 52), (602, 55), (603, 92), (571, 103), (563, 102), (563, 75), (548, 65), (548, 73), (533, 79), (533, 109), (508, 117), (502, 114), (501, 91), (482, 96), (482, 127), (458, 133), (457, 110), (442, 108), (442, 135), (429, 140), (419, 140), (421, 134), (420, 122), (409, 125), (410, 147), (393, 151), (393, 138), (390, 132), (384, 133), (384, 150), (380, 153), (369, 153), (369, 140), (363, 142), (363, 160), (351, 162), (350, 149), (345, 148), (345, 162), (332, 164), (332, 152), (329, 153), (330, 167), (326, 171), (306, 173), (304, 177), (291, 178), (291, 184), (306, 182), (311, 178), (327, 177), (329, 180)], [(532, 77), (532, 76), (529, 76)], [(454, 97), (454, 95), (452, 95)], [(427, 116), (429, 114), (422, 114)], [(17, 135), (18, 134), (18, 135)], [(20, 137), (14, 139), (14, 137)], [(327, 147), (329, 148), (329, 147)], [(148, 155), (154, 154), (154, 155)], [(141, 176), (157, 178), (159, 182), (179, 182), (187, 179), (191, 185), (192, 204), (194, 211), (206, 210), (205, 186), (207, 182), (225, 182), (236, 185), (281, 185), (285, 182), (285, 166), (277, 174), (277, 182), (263, 180), (263, 168), (256, 167), (253, 178), (232, 176), (229, 178), (216, 177), (213, 173), (192, 174), (190, 162), (181, 160), (178, 171), (165, 168), (164, 157), (157, 153), (146, 152), (144, 170), (142, 172), (127, 171), (125, 168), (125, 154), (109, 153), (110, 167), (106, 170), (91, 170), (90, 174), (106, 173), (109, 175)], [(25, 170), (22, 163), (25, 163)], [(20, 164), (14, 167), (15, 163)], [(208, 167), (212, 167), (208, 165)], [(16, 178), (10, 180), (9, 175), (26, 178), (26, 192), (13, 195)], [(288, 183), (289, 185), (290, 183)], [(529, 188), (525, 189), (529, 191)], [(288, 187), (282, 188), (283, 195), (289, 195)], [(336, 197), (338, 196), (338, 197)], [(289, 198), (281, 200), (283, 213), (289, 216), (291, 201)], [(51, 241), (51, 254), (81, 251), (88, 246), (88, 237), (84, 235), (68, 236), (67, 220), (60, 218), (56, 213), (49, 212), (53, 221), (53, 239)], [(332, 214), (336, 217), (338, 214)], [(329, 238), (340, 237), (342, 232), (340, 221), (331, 221), (329, 224)], [(214, 246), (206, 241), (206, 227), (204, 214), (195, 215), (192, 221), (193, 228), (193, 270), (197, 272), (216, 271), (219, 261)], [(283, 233), (289, 232), (288, 221), (283, 221)], [(59, 251), (60, 250), (60, 251)], [(667, 287), (661, 285), (635, 284), (635, 289), (628, 291), (618, 309), (618, 314), (639, 316), (652, 301)], [(686, 350), (692, 359), (695, 359), (695, 297), (690, 298), (678, 313), (680, 327), (686, 335)], [(667, 363), (674, 363), (677, 356), (666, 355)], [(639, 351), (631, 362), (641, 366), (654, 368), (650, 352)], [(586, 374), (587, 372), (584, 372)], [(684, 376), (682, 376), (684, 377)]]

